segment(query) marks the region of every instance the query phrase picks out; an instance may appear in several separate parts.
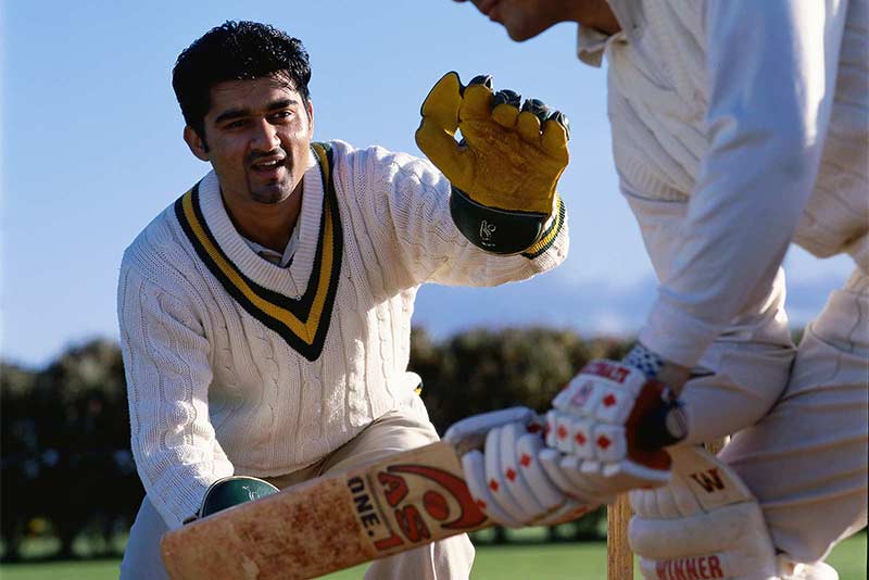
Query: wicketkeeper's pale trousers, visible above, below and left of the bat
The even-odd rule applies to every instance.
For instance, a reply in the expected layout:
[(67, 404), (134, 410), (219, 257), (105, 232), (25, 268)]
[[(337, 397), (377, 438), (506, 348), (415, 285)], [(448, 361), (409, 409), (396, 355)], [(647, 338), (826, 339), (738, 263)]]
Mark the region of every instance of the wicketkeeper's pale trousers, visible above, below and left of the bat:
[[(265, 478), (279, 489), (339, 472), (387, 455), (438, 441), (419, 398), (410, 407), (392, 411), (369, 425), (345, 445), (315, 465), (276, 478)], [(121, 563), (121, 580), (166, 579), (160, 557), (160, 538), (166, 525), (148, 496), (142, 501), (130, 529), (127, 549)], [(433, 544), (375, 560), (366, 580), (466, 580), (474, 564), (474, 545), (467, 534), (454, 535)]]

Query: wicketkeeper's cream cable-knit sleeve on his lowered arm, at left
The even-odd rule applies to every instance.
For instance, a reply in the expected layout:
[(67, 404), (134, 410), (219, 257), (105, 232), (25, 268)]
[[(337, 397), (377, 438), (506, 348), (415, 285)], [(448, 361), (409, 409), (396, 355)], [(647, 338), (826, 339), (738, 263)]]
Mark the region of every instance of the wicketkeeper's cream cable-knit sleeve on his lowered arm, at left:
[(177, 290), (122, 264), (118, 321), (133, 455), (169, 529), (199, 508), (210, 483), (232, 475), (209, 419), (209, 343)]

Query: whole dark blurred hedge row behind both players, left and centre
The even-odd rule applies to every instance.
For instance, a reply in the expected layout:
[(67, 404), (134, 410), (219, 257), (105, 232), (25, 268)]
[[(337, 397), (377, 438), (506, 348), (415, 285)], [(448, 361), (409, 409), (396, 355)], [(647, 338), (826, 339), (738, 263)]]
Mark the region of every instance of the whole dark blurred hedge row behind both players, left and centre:
[[(440, 432), (454, 421), (517, 404), (545, 411), (555, 393), (594, 357), (621, 357), (627, 342), (585, 341), (551, 329), (475, 330), (412, 340), (411, 368)], [(96, 340), (43, 369), (0, 363), (0, 533), (4, 559), (16, 559), (34, 524), (73, 556), (83, 534), (111, 545), (129, 528), (143, 491), (129, 452), (129, 420), (118, 346)], [(600, 517), (574, 526), (600, 533)], [(554, 532), (553, 532), (554, 537)], [(495, 537), (504, 540), (503, 531)]]

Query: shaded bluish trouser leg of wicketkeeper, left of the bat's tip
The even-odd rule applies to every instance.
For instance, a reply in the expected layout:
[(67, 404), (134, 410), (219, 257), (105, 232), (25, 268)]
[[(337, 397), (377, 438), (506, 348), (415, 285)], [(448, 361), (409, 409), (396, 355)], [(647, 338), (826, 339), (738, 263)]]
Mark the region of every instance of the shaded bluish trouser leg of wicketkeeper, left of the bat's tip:
[(160, 539), (168, 531), (148, 496), (142, 500), (121, 562), (121, 580), (168, 579), (160, 557)]

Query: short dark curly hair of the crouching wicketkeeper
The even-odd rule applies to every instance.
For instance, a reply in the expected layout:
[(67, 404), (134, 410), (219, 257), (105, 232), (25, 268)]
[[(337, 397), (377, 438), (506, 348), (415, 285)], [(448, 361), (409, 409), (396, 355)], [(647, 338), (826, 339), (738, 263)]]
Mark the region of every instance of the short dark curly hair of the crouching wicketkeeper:
[(205, 139), (211, 88), (225, 80), (275, 77), (307, 102), (311, 64), (302, 41), (267, 24), (227, 21), (186, 48), (172, 72), (185, 122)]

